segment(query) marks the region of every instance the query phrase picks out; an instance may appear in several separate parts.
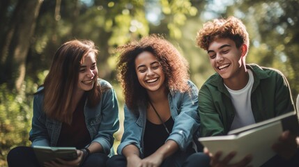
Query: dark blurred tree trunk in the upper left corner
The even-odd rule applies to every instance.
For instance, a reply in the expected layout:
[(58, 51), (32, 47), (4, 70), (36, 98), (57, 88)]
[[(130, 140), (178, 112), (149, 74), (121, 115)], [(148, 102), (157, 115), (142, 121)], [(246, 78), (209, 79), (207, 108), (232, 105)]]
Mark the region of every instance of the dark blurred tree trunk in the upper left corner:
[(10, 89), (20, 91), (26, 73), (26, 57), (31, 44), (31, 36), (36, 26), (40, 5), (43, 0), (18, 1), (13, 17), (10, 19), (10, 30), (6, 35), (6, 48), (2, 51), (1, 81)]

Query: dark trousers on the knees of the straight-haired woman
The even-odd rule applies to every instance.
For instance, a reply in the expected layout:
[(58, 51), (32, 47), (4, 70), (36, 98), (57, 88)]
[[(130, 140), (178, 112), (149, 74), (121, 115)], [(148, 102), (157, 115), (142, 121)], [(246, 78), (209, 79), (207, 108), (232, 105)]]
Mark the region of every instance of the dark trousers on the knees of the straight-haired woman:
[[(105, 167), (108, 157), (103, 153), (93, 153), (84, 161), (82, 167)], [(36, 154), (30, 147), (20, 146), (13, 148), (8, 152), (7, 162), (9, 167), (19, 167), (19, 166), (31, 166), (37, 167), (38, 159), (36, 159)]]

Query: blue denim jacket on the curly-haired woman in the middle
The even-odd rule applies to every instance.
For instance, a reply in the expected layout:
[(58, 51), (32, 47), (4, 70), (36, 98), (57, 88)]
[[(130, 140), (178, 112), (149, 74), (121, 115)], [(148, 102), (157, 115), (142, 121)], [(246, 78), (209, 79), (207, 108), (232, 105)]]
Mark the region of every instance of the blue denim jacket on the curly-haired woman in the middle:
[[(188, 81), (188, 84), (191, 88), (190, 93), (170, 91), (168, 95), (171, 118), (174, 119), (174, 127), (167, 140), (176, 141), (181, 150), (185, 150), (192, 143), (192, 135), (199, 127), (197, 98), (199, 90), (192, 81)], [(124, 112), (124, 132), (121, 144), (118, 145), (117, 153), (121, 154), (126, 145), (133, 144), (139, 148), (141, 157), (143, 157), (146, 106), (139, 108), (139, 116), (134, 115), (127, 106), (124, 107)]]

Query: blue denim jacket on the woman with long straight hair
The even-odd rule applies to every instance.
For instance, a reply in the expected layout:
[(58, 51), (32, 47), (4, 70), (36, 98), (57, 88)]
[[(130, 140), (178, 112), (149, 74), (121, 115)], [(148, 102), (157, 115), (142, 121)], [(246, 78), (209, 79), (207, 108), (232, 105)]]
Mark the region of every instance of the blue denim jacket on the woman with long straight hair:
[[(119, 127), (118, 101), (111, 84), (103, 79), (98, 79), (98, 83), (101, 86), (109, 87), (109, 89), (102, 93), (99, 104), (94, 108), (89, 108), (85, 102), (84, 116), (92, 142), (100, 143), (105, 154), (109, 154), (114, 143), (113, 134)], [(40, 90), (43, 90), (43, 87), (38, 89), (38, 91)], [(47, 118), (43, 111), (43, 98), (44, 93), (38, 93), (34, 96), (32, 127), (29, 132), (29, 140), (32, 142), (31, 146), (56, 146), (62, 123)]]

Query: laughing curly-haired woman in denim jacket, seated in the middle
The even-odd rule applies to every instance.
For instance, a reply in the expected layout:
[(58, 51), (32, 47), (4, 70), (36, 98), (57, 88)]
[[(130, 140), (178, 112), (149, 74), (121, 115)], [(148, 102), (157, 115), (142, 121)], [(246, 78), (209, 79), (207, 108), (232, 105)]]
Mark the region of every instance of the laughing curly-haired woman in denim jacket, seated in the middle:
[(181, 166), (194, 152), (197, 87), (188, 63), (162, 36), (118, 47), (125, 96), (124, 133), (107, 166)]

